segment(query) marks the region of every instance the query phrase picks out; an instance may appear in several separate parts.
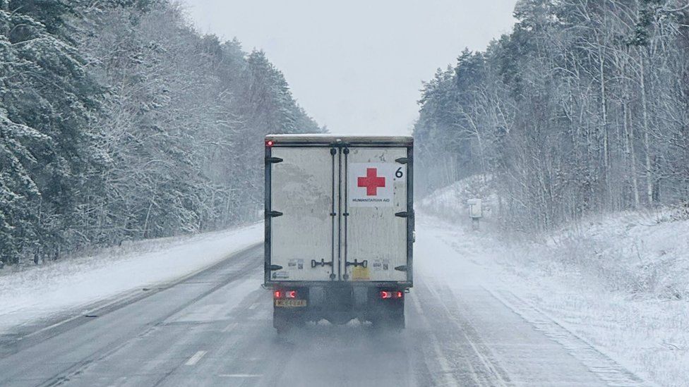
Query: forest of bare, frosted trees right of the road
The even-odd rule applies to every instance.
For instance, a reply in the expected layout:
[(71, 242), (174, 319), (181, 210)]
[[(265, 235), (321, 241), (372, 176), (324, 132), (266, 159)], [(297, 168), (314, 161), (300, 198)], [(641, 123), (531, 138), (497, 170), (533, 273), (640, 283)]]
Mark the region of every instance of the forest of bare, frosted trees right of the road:
[(420, 193), (483, 176), (518, 231), (687, 207), (689, 4), (520, 0), (514, 16), (424, 82)]

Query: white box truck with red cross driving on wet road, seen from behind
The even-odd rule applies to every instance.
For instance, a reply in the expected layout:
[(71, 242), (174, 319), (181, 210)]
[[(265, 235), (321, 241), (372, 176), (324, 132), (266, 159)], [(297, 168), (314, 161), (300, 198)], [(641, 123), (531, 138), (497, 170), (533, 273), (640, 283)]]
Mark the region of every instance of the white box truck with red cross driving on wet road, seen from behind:
[(413, 148), (410, 136), (265, 136), (263, 285), (278, 334), (323, 319), (405, 327)]

